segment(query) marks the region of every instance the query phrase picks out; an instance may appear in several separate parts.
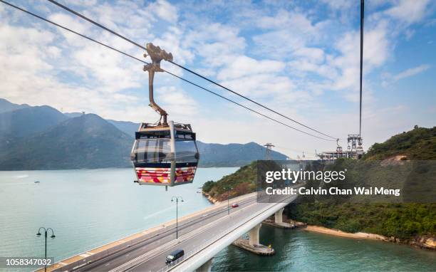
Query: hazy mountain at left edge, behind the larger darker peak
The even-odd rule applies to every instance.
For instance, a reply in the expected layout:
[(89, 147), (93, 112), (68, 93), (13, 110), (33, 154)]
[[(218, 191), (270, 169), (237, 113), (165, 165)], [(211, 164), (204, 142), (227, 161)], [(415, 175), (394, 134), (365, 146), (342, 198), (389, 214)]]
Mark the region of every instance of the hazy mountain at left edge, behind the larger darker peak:
[(31, 136), (68, 119), (49, 106), (26, 107), (0, 113), (0, 138)]

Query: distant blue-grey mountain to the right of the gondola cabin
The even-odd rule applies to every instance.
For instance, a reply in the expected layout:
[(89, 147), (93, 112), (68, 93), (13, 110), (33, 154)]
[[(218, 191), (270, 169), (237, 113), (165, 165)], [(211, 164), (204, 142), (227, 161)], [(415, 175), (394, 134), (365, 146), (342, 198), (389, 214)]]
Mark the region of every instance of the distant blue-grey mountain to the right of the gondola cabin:
[[(265, 147), (249, 142), (248, 144), (207, 144), (197, 141), (202, 167), (233, 167), (249, 164), (257, 159), (265, 159)], [(271, 159), (284, 160), (287, 157), (271, 151)]]

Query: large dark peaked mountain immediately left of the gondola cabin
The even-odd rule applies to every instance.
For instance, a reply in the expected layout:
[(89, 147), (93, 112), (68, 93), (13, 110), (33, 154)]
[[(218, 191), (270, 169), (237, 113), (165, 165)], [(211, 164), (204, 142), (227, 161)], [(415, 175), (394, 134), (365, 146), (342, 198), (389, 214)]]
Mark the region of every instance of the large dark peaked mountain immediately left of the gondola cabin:
[(70, 118), (0, 150), (0, 169), (130, 166), (133, 137), (94, 114)]

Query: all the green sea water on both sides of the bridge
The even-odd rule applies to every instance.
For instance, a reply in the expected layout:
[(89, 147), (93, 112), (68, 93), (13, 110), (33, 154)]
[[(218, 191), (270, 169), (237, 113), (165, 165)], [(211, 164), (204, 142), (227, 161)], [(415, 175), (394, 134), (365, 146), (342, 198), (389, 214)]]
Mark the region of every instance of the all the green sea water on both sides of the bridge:
[[(193, 184), (167, 192), (133, 183), (132, 169), (0, 172), (0, 256), (43, 256), (40, 226), (54, 229), (48, 256), (60, 261), (174, 219), (172, 196), (185, 200), (180, 216), (204, 209), (210, 204), (199, 187), (236, 170), (200, 168)], [(214, 258), (212, 271), (436, 271), (435, 251), (380, 241), (262, 226), (261, 243), (276, 255), (229, 246)]]

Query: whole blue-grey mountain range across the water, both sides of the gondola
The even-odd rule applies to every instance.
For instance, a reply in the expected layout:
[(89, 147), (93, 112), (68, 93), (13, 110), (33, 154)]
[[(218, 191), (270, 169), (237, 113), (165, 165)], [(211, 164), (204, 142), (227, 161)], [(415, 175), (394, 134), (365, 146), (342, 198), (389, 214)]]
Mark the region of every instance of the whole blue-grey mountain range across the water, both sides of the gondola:
[[(61, 113), (0, 99), (0, 170), (130, 167), (138, 123)], [(265, 147), (197, 140), (202, 167), (239, 167), (264, 159)], [(286, 155), (271, 152), (272, 159)]]

